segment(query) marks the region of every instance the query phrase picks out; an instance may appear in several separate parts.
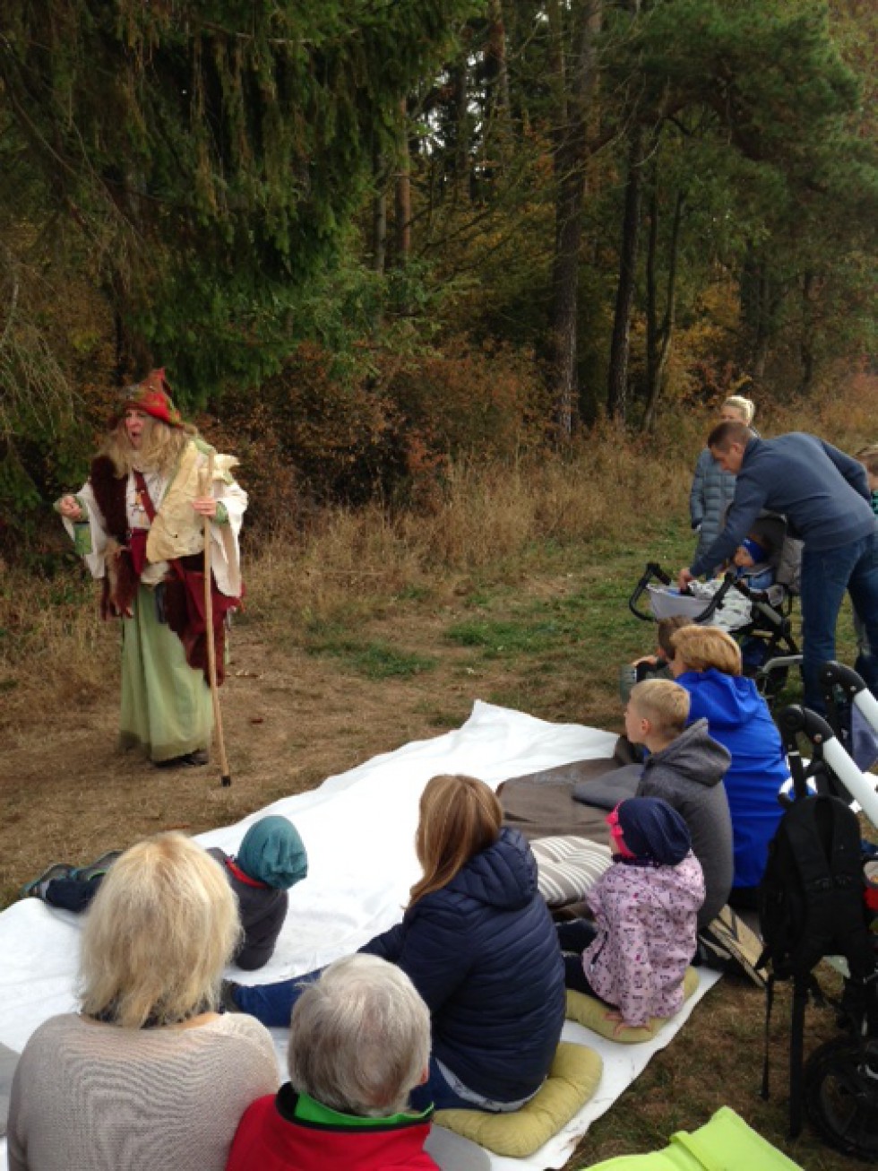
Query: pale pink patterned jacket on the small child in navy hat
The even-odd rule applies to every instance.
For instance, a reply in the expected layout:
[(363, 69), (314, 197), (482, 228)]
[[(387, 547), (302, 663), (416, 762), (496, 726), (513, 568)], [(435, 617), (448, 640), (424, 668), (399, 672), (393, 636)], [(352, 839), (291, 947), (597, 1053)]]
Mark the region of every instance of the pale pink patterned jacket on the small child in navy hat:
[(589, 891), (597, 938), (582, 956), (595, 992), (626, 1025), (673, 1016), (695, 951), (695, 918), (705, 897), (701, 867), (687, 854), (675, 867), (615, 862)]

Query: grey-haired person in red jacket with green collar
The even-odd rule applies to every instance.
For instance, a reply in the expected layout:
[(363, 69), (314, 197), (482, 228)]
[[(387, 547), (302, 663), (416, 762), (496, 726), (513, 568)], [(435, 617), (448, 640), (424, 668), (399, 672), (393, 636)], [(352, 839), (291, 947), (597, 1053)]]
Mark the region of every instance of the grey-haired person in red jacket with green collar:
[(409, 1109), (427, 1077), (430, 1011), (404, 972), (376, 956), (336, 960), (289, 1029), (289, 1081), (247, 1109), (226, 1171), (437, 1171), (424, 1150), (432, 1107)]

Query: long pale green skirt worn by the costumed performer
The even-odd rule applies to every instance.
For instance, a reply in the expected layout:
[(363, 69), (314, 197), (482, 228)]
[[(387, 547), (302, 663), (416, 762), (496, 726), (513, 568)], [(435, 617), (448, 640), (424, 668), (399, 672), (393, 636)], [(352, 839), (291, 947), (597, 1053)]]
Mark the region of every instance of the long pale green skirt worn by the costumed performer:
[(192, 670), (180, 639), (158, 621), (145, 586), (133, 612), (122, 619), (122, 747), (144, 748), (156, 763), (208, 749), (213, 705), (204, 672)]

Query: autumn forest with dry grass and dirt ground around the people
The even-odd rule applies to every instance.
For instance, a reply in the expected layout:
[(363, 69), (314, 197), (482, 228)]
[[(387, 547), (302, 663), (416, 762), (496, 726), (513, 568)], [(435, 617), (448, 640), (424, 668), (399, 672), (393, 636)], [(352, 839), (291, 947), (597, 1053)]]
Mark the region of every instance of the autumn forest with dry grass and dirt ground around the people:
[[(877, 438), (877, 32), (866, 0), (7, 0), (0, 903), (476, 697), (618, 730), (625, 597), (688, 560), (722, 398)], [(152, 365), (251, 493), (229, 789), (115, 754), (117, 631), (52, 514)], [(761, 1015), (723, 980), (571, 1166), (723, 1101), (784, 1144)]]

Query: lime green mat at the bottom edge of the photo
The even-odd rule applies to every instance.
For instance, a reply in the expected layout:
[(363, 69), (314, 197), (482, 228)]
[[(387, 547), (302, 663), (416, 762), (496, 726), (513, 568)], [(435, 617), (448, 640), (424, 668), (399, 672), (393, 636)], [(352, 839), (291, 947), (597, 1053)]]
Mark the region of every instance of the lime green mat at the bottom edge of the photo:
[(589, 1171), (802, 1171), (727, 1105), (704, 1127), (679, 1130), (671, 1145), (649, 1155), (619, 1155)]

